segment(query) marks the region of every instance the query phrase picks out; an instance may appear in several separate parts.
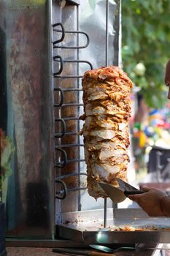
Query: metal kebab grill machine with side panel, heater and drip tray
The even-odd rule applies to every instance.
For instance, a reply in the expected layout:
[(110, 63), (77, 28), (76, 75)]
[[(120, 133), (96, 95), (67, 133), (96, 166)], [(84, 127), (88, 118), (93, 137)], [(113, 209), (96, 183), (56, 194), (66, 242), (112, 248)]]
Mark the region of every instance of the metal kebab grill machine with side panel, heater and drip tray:
[(120, 0), (89, 3), (0, 2), (0, 128), (15, 148), (2, 189), (8, 246), (169, 243), (167, 230), (110, 229), (169, 219), (88, 195), (81, 79), (118, 66), (121, 48)]

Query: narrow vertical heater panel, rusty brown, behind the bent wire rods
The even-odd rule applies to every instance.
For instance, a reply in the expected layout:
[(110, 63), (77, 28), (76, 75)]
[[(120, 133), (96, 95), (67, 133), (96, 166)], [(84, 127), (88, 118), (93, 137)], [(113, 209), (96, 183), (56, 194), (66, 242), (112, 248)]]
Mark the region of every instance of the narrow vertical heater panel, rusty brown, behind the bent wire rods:
[[(72, 4), (69, 1), (66, 1), (66, 4), (63, 6), (62, 3), (58, 4), (58, 1), (53, 2), (53, 23), (62, 23), (65, 31), (77, 31), (77, 4)], [(58, 26), (58, 29), (61, 30), (61, 27)], [(61, 37), (61, 32), (53, 32), (53, 42)], [(69, 89), (77, 89), (78, 81), (77, 78), (63, 78), (66, 75), (77, 75), (77, 62), (67, 62), (77, 60), (78, 51), (77, 49), (62, 48), (62, 47), (74, 47), (77, 45), (77, 34), (75, 33), (66, 33), (62, 42), (56, 44), (57, 48), (53, 50), (53, 56), (61, 56), (63, 59), (63, 70), (61, 75), (58, 75), (57, 78), (53, 79), (54, 88), (63, 90), (63, 104), (65, 105), (62, 108), (55, 108), (55, 118), (63, 118), (66, 124), (66, 132), (77, 132), (78, 122), (77, 120), (72, 120), (72, 118), (78, 118), (79, 112), (78, 108), (74, 104), (77, 102), (77, 91), (69, 91)], [(53, 72), (56, 72), (59, 67), (57, 63), (53, 66)], [(64, 91), (68, 90), (68, 91)], [(60, 96), (58, 91), (54, 95), (55, 104), (60, 101)], [(71, 104), (71, 105), (70, 105)], [(66, 120), (67, 119), (67, 120)], [(55, 132), (61, 131), (61, 124), (56, 123)], [(61, 145), (71, 144), (72, 146), (65, 147), (62, 149), (66, 151), (67, 159), (77, 159), (79, 154), (79, 147), (74, 146), (78, 143), (77, 135), (64, 135), (62, 138), (55, 138), (55, 145), (60, 147)], [(58, 162), (60, 159), (60, 152), (55, 151), (55, 161)], [(79, 165), (75, 162), (68, 163), (65, 167), (55, 168), (56, 178), (64, 176), (67, 174), (74, 174), (79, 172)], [(63, 181), (66, 183), (68, 189), (72, 187), (78, 187), (79, 178), (77, 176), (71, 176), (69, 178), (64, 178)], [(79, 208), (79, 194), (80, 192), (74, 191), (69, 192), (64, 200), (56, 200), (56, 211), (58, 216), (60, 212), (66, 211), (77, 211)]]

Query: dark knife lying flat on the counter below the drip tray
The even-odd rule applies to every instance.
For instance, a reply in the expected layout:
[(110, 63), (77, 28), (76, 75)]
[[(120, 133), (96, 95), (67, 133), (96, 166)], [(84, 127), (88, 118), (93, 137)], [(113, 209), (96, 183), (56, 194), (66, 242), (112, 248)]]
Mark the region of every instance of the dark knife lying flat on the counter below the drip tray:
[[(108, 256), (108, 253), (96, 252), (87, 249), (73, 249), (73, 248), (54, 248), (53, 252), (60, 252), (73, 255), (90, 255), (90, 256)], [(112, 254), (113, 255), (113, 254)]]

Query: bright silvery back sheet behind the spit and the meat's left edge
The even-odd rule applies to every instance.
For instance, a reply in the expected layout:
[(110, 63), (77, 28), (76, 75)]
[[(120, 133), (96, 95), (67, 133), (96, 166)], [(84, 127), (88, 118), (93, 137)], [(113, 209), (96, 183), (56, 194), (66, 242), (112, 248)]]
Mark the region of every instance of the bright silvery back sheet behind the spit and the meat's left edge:
[[(90, 7), (88, 0), (82, 0), (80, 1), (79, 9), (80, 30), (85, 31), (90, 38), (88, 47), (80, 50), (80, 59), (90, 61), (93, 68), (112, 64), (118, 65), (120, 50), (120, 1), (96, 1), (96, 7), (93, 9)], [(80, 44), (84, 42), (85, 38), (80, 37)], [(86, 66), (80, 66), (80, 73), (83, 74), (87, 68)], [(80, 124), (81, 127), (82, 123)], [(83, 136), (80, 138), (80, 143), (83, 143)], [(80, 148), (80, 154), (84, 158), (84, 148)], [(80, 170), (86, 170), (85, 162), (80, 163)], [(86, 183), (85, 176), (81, 177), (81, 183)], [(82, 211), (104, 208), (104, 199), (98, 198), (96, 201), (88, 195), (88, 192), (82, 191), (80, 205)], [(107, 200), (107, 207), (112, 207), (110, 199)]]

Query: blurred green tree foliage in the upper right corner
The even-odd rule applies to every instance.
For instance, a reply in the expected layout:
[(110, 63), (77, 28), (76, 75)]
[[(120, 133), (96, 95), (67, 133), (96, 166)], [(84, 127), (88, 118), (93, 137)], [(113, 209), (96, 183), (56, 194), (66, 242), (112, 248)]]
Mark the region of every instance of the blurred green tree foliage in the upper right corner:
[(170, 1), (122, 0), (122, 36), (123, 70), (141, 88), (149, 107), (163, 107), (165, 65), (170, 59)]

